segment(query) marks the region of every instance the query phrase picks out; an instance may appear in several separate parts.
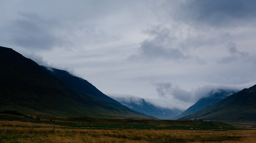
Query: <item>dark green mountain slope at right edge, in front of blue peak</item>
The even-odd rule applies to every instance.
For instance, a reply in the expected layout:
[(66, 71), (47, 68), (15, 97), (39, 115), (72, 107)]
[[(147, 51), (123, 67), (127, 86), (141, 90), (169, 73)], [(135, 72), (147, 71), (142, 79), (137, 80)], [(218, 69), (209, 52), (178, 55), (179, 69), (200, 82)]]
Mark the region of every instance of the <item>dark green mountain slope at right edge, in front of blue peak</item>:
[(256, 122), (256, 85), (236, 92), (218, 103), (181, 119)]

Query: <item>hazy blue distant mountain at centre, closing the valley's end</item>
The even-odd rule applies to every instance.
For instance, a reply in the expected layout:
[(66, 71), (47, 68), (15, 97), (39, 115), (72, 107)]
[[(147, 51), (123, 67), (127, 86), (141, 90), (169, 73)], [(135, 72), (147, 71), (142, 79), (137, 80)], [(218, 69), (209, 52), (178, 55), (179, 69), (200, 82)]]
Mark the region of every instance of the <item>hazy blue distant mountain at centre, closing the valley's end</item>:
[(167, 108), (157, 107), (152, 103), (146, 102), (143, 98), (138, 98), (138, 97), (112, 97), (112, 98), (132, 110), (147, 114), (149, 116), (154, 116), (158, 119), (171, 119), (182, 112), (179, 109), (167, 109)]

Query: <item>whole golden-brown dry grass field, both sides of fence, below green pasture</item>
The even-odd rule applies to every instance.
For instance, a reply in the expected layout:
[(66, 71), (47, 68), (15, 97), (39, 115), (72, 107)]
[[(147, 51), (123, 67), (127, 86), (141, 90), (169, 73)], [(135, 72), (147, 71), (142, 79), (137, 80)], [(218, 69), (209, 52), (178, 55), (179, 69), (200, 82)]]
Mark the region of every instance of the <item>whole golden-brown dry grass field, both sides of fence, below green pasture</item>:
[[(77, 122), (20, 122), (0, 121), (1, 143), (82, 143), (82, 142), (222, 142), (222, 143), (255, 143), (256, 130), (220, 127), (209, 127), (209, 130), (201, 130), (197, 127), (189, 129), (166, 128), (151, 130), (136, 127), (136, 124), (127, 124), (125, 129), (120, 128), (125, 124), (94, 124), (80, 125)], [(7, 125), (7, 130), (5, 132)], [(133, 128), (131, 128), (131, 126)], [(200, 126), (205, 124), (199, 124)], [(210, 125), (210, 124), (208, 124)], [(34, 126), (32, 132), (32, 126)], [(55, 127), (53, 131), (53, 126)], [(81, 126), (81, 127), (79, 127)], [(144, 126), (144, 125), (138, 125)], [(107, 128), (105, 128), (107, 127)], [(163, 128), (165, 128), (164, 126)], [(175, 127), (175, 126), (174, 126)], [(119, 129), (118, 129), (119, 128)], [(193, 128), (193, 129), (191, 129)], [(208, 127), (207, 127), (208, 128)]]

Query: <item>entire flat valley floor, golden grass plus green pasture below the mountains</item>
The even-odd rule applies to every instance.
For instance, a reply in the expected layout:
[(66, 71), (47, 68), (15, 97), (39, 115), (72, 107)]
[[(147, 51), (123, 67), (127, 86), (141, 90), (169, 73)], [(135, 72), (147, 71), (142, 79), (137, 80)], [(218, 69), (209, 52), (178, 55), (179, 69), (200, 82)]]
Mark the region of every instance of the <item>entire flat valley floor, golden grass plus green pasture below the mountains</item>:
[[(0, 117), (3, 114), (0, 114)], [(9, 116), (9, 115), (5, 115)], [(256, 130), (218, 121), (98, 119), (0, 120), (1, 142), (255, 142)], [(53, 120), (55, 119), (55, 121)], [(58, 120), (57, 120), (58, 119)], [(82, 122), (81, 119), (84, 119)], [(27, 119), (25, 119), (27, 120)], [(23, 121), (25, 121), (23, 119)], [(67, 121), (69, 120), (69, 121)], [(80, 120), (75, 121), (75, 120)], [(90, 121), (90, 122), (88, 122)], [(95, 122), (98, 121), (98, 122)]]

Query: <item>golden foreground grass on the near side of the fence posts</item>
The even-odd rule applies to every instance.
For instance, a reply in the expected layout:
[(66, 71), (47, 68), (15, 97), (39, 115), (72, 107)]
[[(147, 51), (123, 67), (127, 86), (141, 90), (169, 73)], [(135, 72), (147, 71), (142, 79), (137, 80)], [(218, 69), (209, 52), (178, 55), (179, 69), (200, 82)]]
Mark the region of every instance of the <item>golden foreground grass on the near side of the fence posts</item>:
[(82, 143), (82, 142), (222, 142), (255, 143), (256, 130), (90, 130), (50, 127), (0, 127), (2, 143)]

